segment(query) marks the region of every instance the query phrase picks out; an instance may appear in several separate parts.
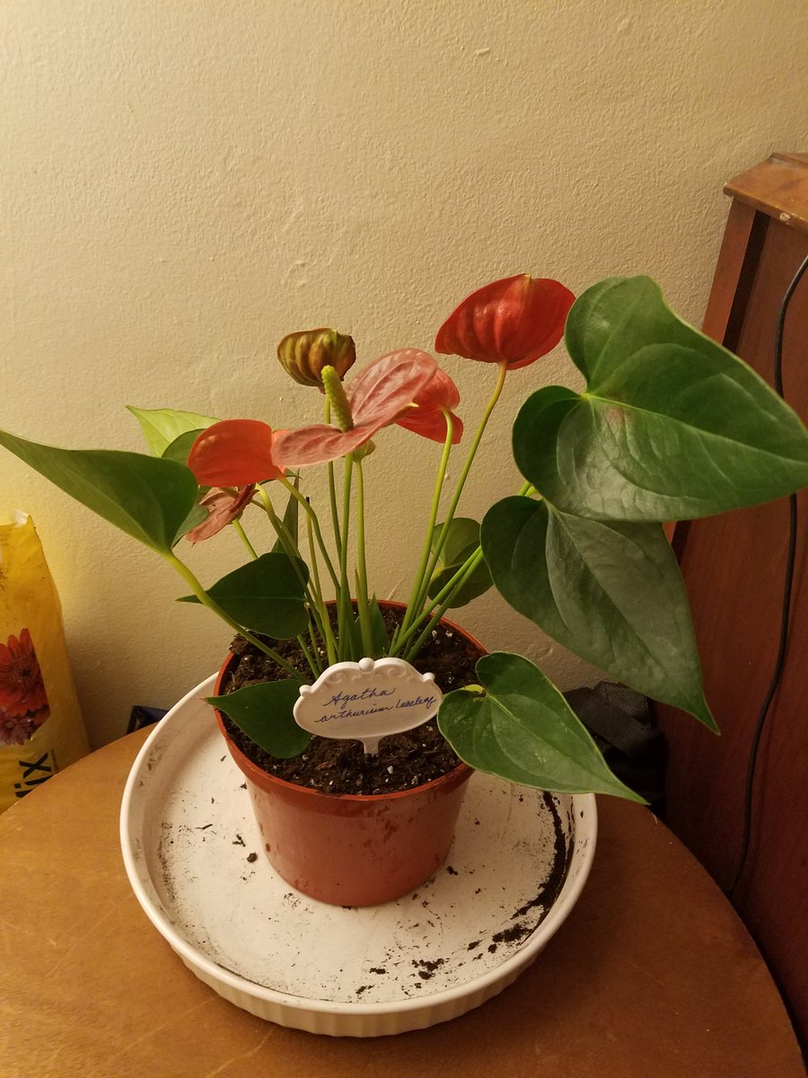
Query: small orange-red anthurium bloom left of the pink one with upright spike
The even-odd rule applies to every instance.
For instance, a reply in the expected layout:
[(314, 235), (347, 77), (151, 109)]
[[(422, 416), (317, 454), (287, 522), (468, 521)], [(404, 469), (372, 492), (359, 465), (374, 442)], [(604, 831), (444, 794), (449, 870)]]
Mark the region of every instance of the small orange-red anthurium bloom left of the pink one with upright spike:
[(260, 419), (223, 419), (196, 439), (187, 466), (208, 486), (247, 486), (281, 479), (275, 446), (283, 431), (273, 432)]

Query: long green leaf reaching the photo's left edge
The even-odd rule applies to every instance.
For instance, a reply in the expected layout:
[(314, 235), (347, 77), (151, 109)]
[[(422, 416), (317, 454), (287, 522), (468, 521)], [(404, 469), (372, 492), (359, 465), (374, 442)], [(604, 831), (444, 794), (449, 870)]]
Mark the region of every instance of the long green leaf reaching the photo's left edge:
[(117, 450), (60, 450), (0, 431), (0, 445), (162, 554), (187, 530), (197, 484), (184, 465)]

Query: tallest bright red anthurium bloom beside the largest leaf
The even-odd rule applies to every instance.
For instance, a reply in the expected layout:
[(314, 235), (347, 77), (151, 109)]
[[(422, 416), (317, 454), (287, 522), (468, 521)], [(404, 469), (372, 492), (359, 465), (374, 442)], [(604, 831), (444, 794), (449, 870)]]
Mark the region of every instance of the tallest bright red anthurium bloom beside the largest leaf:
[(563, 334), (575, 296), (549, 278), (505, 277), (472, 292), (437, 331), (435, 351), (484, 363), (527, 367)]

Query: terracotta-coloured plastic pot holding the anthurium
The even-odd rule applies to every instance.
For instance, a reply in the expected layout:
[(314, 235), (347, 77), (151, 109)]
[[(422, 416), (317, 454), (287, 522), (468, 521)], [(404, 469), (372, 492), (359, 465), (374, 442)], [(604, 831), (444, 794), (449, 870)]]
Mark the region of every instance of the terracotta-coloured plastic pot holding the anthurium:
[[(236, 661), (228, 655), (222, 665), (217, 695)], [(264, 852), (297, 890), (333, 906), (377, 906), (414, 890), (446, 860), (472, 774), (466, 764), (401, 792), (321, 793), (256, 766), (229, 740), (218, 711), (217, 718), (247, 778)]]

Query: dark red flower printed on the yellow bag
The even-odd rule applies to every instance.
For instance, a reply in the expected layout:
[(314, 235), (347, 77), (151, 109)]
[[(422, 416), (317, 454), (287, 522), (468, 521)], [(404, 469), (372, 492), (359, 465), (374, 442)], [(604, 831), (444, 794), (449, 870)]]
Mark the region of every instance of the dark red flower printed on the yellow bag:
[(51, 714), (31, 634), (0, 644), (0, 744), (24, 745)]

